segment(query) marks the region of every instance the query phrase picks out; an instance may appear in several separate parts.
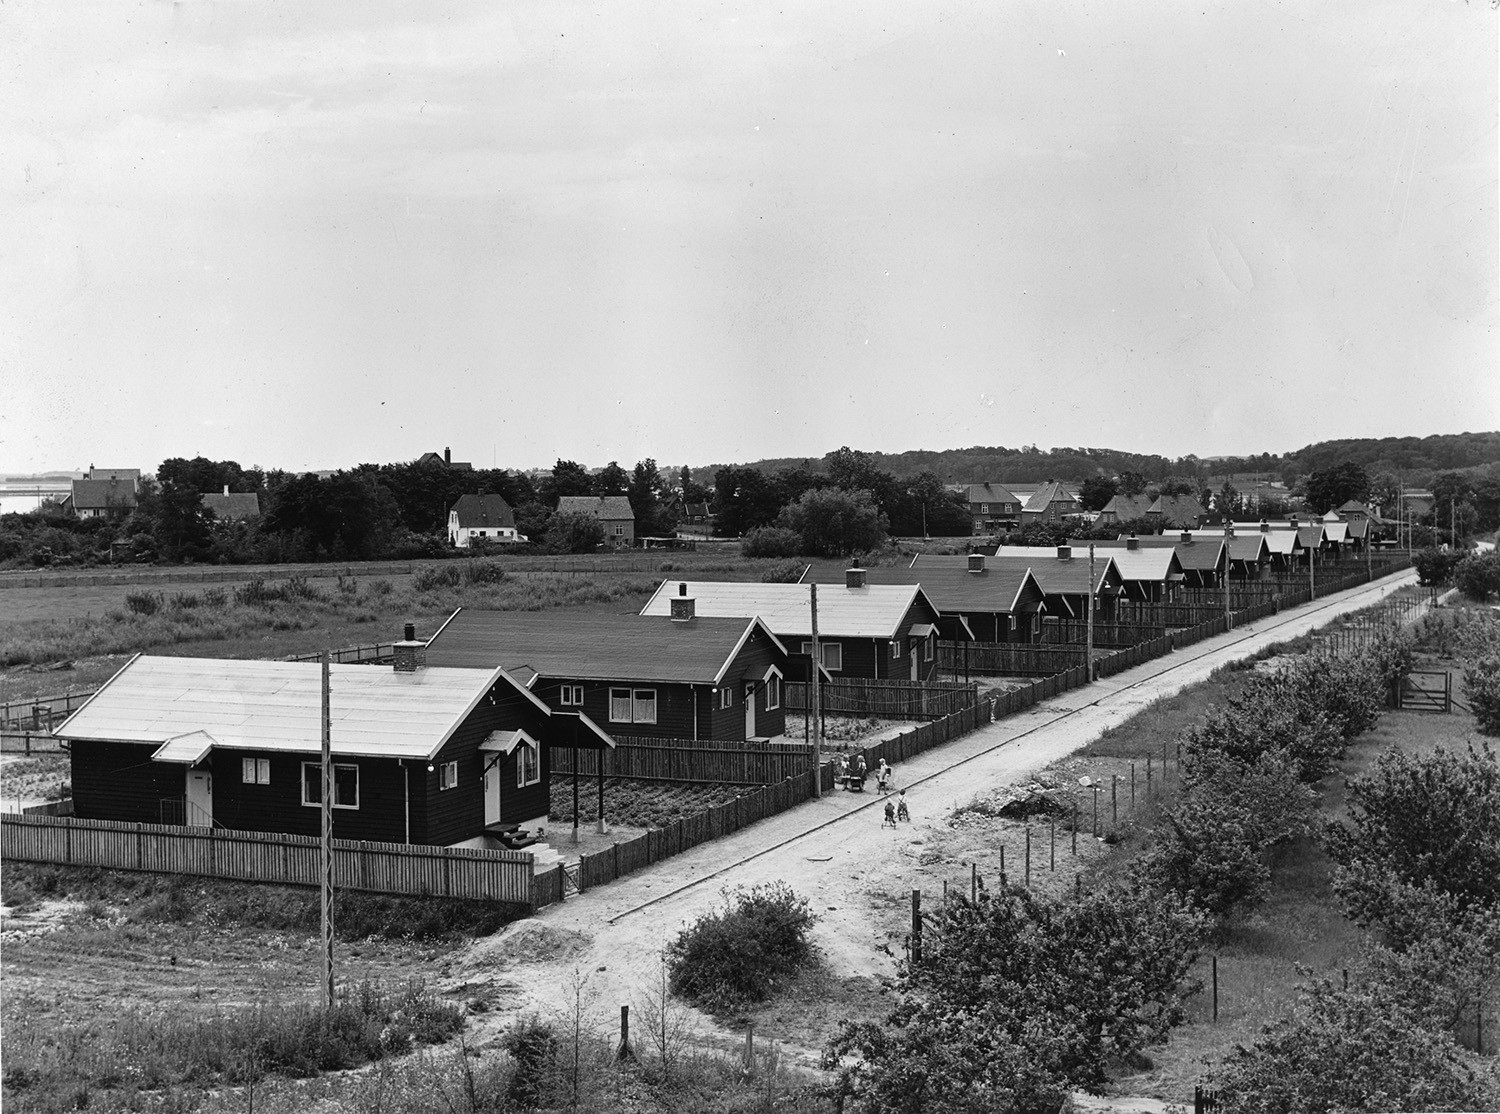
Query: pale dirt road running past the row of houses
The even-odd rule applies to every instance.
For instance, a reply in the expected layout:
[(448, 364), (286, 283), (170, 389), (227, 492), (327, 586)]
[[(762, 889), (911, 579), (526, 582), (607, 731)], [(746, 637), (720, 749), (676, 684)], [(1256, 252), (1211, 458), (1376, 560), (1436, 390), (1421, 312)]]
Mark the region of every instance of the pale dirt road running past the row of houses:
[[(874, 793), (836, 792), (552, 906), (454, 955), (450, 988), (488, 990), (501, 1005), (488, 1015), (489, 1026), (516, 1009), (561, 1009), (574, 969), (588, 975), (600, 1009), (639, 1008), (654, 957), (684, 924), (718, 903), (723, 888), (776, 880), (812, 901), (819, 915), (813, 937), (834, 976), (890, 975), (909, 922), (908, 895), (924, 861), (932, 862), (932, 849), (951, 841), (948, 819), (956, 808), (998, 786), (1030, 780), (1214, 669), (1374, 604), (1414, 579), (1414, 573), (1388, 577), (1246, 624), (928, 751), (896, 771), (894, 784), (910, 801), (910, 825), (882, 826), (884, 799)], [(714, 1032), (704, 1018), (699, 1026)]]

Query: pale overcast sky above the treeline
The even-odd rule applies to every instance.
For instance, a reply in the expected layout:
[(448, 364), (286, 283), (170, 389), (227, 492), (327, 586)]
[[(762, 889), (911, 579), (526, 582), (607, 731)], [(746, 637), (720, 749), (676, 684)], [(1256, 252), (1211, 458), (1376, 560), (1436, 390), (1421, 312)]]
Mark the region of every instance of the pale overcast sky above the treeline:
[(0, 468), (1500, 427), (1497, 13), (0, 4)]

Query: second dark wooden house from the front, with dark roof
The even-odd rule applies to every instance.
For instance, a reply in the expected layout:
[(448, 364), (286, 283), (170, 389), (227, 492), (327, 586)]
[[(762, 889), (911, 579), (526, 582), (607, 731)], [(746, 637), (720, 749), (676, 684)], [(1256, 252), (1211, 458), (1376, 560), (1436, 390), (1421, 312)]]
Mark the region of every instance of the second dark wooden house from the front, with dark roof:
[(786, 732), (786, 646), (754, 618), (459, 609), (428, 643), (440, 666), (504, 666), (560, 711), (634, 738), (753, 739)]

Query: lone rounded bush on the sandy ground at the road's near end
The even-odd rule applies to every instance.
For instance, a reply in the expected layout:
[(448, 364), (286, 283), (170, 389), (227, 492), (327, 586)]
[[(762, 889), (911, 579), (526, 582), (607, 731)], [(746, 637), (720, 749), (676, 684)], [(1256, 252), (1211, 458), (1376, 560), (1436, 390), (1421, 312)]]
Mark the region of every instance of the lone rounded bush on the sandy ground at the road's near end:
[(784, 882), (726, 892), (668, 945), (672, 993), (716, 1014), (764, 1002), (812, 955), (816, 919)]

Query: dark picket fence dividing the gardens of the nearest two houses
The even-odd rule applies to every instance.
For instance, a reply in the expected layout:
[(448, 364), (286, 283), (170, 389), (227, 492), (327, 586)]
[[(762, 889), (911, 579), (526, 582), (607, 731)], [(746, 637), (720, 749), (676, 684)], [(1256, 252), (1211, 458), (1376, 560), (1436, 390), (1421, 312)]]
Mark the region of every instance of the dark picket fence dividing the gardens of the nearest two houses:
[(614, 738), (614, 750), (555, 748), (552, 772), (592, 778), (603, 763), (606, 778), (770, 786), (812, 768), (802, 742)]

